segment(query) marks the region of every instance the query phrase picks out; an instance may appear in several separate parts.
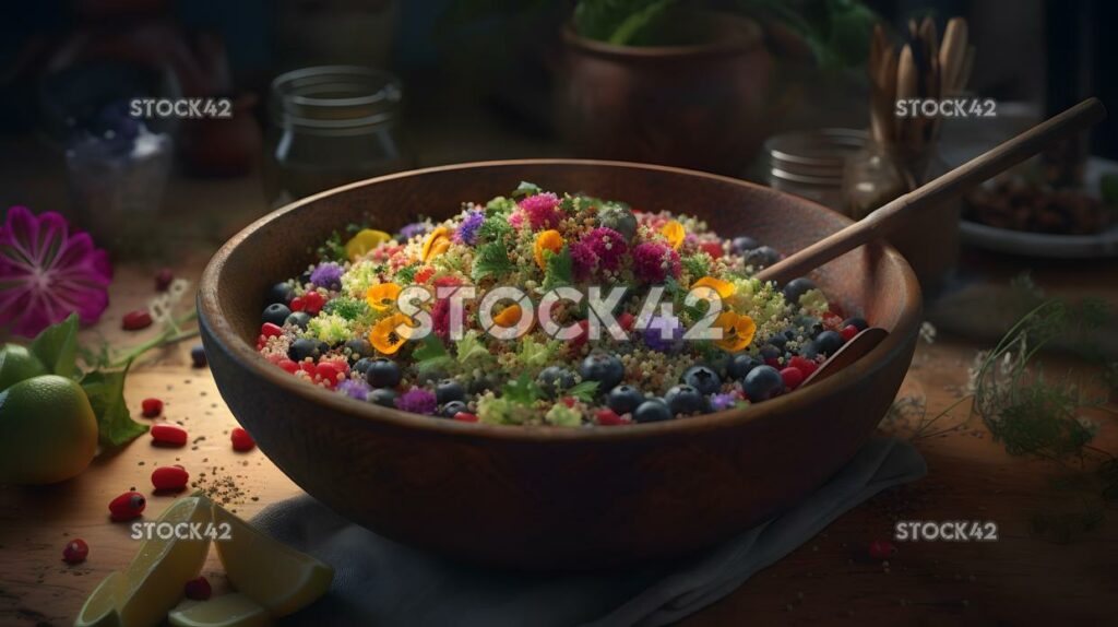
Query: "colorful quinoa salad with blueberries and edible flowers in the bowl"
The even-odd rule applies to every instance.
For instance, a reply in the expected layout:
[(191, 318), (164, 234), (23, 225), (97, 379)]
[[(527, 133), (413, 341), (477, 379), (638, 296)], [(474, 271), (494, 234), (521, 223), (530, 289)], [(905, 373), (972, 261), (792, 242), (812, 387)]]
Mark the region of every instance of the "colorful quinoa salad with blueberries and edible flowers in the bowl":
[(620, 426), (789, 393), (858, 332), (780, 254), (682, 212), (521, 183), (398, 232), (349, 225), (273, 285), (256, 348), (363, 402), (492, 425)]

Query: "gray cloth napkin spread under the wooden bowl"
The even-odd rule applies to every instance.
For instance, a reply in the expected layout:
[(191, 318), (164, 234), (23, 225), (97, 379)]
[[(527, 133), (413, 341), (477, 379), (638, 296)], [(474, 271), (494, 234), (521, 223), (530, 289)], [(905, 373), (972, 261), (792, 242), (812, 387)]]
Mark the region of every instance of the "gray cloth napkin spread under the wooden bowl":
[(717, 601), (878, 492), (925, 475), (910, 444), (866, 444), (784, 514), (702, 554), (622, 571), (533, 574), (448, 561), (356, 525), (300, 496), (254, 520), (332, 564), (330, 593), (285, 625), (664, 625)]

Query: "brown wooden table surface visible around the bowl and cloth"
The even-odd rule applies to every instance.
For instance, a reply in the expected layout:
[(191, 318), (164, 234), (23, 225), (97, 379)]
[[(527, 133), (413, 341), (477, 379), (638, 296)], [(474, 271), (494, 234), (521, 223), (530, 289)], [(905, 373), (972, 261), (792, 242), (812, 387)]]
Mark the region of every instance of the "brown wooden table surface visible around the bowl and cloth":
[[(9, 193), (57, 198), (57, 189), (27, 183), (21, 190), (18, 177), (2, 178), (7, 179), (3, 182)], [(212, 188), (209, 198), (244, 196), (229, 191), (226, 182), (206, 184)], [(186, 208), (200, 202), (199, 194), (176, 191), (172, 188), (172, 206)], [(34, 200), (25, 203), (39, 210), (49, 208)], [(252, 215), (243, 212), (237, 220), (243, 224)], [(210, 239), (231, 232), (228, 225), (210, 230)], [(196, 279), (207, 253), (191, 241), (179, 238), (177, 248), (167, 256), (176, 259), (180, 276)], [(1033, 267), (1038, 270), (1036, 282), (1054, 292), (1097, 293), (1118, 303), (1118, 264), (1114, 262), (1045, 264), (979, 255), (968, 257), (967, 263), (997, 282)], [(152, 265), (119, 265), (112, 305), (95, 329), (84, 332), (84, 339), (103, 335), (129, 343), (144, 339), (143, 332), (120, 331), (120, 322), (124, 312), (143, 306), (154, 295), (154, 269)], [(165, 419), (181, 424), (190, 434), (186, 447), (155, 448), (143, 436), (112, 456), (98, 457), (84, 474), (61, 485), (0, 487), (0, 625), (72, 623), (85, 596), (111, 570), (125, 566), (138, 548), (126, 525), (108, 522), (108, 501), (133, 486), (150, 493), (149, 476), (157, 466), (181, 464), (192, 481), (207, 487), (220, 486), (221, 497), (245, 517), (268, 503), (300, 494), (259, 450), (231, 450), (229, 430), (236, 420), (221, 401), (209, 371), (190, 367), (190, 344), (150, 355), (133, 369), (125, 390), (138, 420), (145, 420), (140, 417), (142, 399), (163, 399)], [(932, 414), (948, 407), (958, 399), (975, 352), (987, 345), (945, 333), (935, 343), (921, 343), (901, 395), (923, 398)], [(956, 414), (957, 420), (966, 418), (963, 408)], [(1099, 420), (1101, 429), (1095, 444), (1118, 452), (1118, 419), (1103, 415)], [(1062, 509), (1074, 512), (1078, 505), (1069, 503), (1067, 493), (1054, 482), (1057, 471), (1052, 465), (1010, 457), (976, 419), (959, 430), (921, 439), (917, 446), (928, 462), (925, 479), (849, 512), (684, 623), (1115, 623), (1118, 511), (1107, 511), (1097, 528), (1070, 543), (1045, 540), (1031, 531), (1033, 516)], [(152, 496), (146, 519), (154, 520), (172, 498)], [(869, 543), (891, 538), (898, 519), (993, 521), (1001, 538), (989, 543), (902, 543), (888, 562), (868, 559)], [(91, 548), (89, 559), (74, 567), (60, 560), (64, 545), (73, 538), (83, 538)], [(222, 585), (214, 555), (203, 572), (218, 587)]]

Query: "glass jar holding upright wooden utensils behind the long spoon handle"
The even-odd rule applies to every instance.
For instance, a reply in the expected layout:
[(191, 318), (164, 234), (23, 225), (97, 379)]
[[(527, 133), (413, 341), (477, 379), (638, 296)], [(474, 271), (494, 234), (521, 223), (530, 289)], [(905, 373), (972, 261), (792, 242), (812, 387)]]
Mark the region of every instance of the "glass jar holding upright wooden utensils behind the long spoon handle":
[[(920, 153), (904, 153), (869, 142), (846, 163), (847, 213), (855, 220), (949, 170), (935, 145)], [(889, 241), (912, 266), (926, 295), (936, 295), (958, 263), (958, 199), (925, 207), (906, 216), (889, 234)]]

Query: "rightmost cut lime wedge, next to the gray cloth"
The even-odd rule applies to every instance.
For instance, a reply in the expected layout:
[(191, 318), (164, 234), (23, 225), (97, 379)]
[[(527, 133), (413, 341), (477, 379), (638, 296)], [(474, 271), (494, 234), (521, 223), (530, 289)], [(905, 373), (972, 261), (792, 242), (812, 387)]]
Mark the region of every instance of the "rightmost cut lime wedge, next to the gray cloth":
[(229, 539), (216, 542), (229, 582), (272, 616), (297, 611), (330, 589), (330, 566), (268, 538), (217, 504), (214, 522), (229, 525)]

